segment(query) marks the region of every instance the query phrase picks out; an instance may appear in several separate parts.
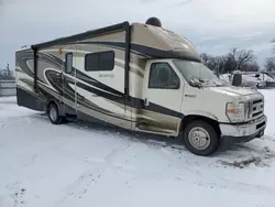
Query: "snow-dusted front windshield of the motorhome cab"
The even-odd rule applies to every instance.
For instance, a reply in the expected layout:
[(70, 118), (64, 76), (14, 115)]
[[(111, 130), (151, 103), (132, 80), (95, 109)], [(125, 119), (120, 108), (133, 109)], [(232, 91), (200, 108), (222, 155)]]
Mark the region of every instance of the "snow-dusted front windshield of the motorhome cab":
[(173, 59), (185, 79), (193, 86), (222, 86), (224, 85), (206, 65), (186, 59)]

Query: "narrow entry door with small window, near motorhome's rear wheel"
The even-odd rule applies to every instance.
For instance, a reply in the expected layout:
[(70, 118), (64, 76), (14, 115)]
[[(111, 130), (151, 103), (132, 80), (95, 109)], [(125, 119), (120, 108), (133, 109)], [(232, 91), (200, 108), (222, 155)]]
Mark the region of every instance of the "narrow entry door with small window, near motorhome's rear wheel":
[[(65, 51), (65, 50), (64, 50)], [(63, 102), (67, 116), (76, 115), (76, 50), (66, 50), (63, 73)]]

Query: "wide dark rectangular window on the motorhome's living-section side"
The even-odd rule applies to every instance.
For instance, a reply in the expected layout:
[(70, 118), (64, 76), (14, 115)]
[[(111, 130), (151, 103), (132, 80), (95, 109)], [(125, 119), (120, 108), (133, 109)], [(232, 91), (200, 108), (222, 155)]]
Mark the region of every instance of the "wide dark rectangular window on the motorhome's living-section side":
[(85, 56), (85, 70), (112, 70), (114, 67), (114, 52), (90, 53)]

